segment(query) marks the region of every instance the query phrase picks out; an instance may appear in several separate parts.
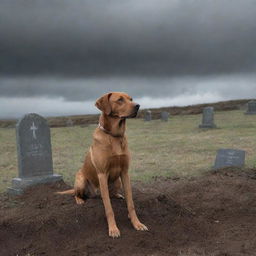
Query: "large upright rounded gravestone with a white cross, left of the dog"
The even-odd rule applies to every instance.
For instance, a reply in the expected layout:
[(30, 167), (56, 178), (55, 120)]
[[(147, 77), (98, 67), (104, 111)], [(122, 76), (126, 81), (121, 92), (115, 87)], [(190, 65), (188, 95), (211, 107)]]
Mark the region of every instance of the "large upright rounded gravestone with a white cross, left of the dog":
[(32, 185), (62, 180), (53, 174), (50, 128), (46, 119), (27, 114), (16, 125), (18, 177), (12, 180), (10, 194), (22, 194)]

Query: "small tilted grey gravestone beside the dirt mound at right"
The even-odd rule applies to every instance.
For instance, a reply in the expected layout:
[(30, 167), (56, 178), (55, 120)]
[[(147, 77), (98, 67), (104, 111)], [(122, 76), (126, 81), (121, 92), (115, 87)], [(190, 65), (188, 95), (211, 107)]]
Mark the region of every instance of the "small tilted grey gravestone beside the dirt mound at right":
[(238, 149), (219, 149), (214, 164), (214, 169), (234, 166), (243, 167), (245, 162), (245, 151)]

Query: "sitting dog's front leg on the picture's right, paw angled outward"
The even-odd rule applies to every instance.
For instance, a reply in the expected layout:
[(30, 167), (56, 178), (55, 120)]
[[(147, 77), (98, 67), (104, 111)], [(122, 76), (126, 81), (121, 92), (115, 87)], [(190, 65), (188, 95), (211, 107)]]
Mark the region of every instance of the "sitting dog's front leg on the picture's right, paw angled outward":
[(148, 230), (148, 228), (144, 224), (142, 224), (137, 217), (133, 199), (132, 199), (132, 188), (131, 188), (131, 182), (130, 182), (130, 177), (129, 177), (128, 171), (122, 172), (121, 180), (122, 180), (123, 187), (124, 187), (124, 193), (125, 193), (125, 199), (126, 199), (126, 203), (127, 203), (128, 213), (131, 218), (133, 227), (136, 230), (141, 230), (141, 231)]

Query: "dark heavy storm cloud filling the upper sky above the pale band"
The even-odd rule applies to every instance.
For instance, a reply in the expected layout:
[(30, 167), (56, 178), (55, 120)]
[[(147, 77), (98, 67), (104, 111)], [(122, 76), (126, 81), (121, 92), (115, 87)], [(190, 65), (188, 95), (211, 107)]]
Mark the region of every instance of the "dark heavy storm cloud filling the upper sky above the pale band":
[(256, 67), (253, 0), (3, 0), (0, 31), (4, 75), (216, 74)]

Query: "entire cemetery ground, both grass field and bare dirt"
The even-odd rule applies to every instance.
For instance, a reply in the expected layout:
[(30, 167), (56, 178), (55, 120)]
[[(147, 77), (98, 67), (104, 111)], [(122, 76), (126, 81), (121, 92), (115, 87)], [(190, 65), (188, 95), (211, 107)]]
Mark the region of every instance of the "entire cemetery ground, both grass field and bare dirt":
[[(75, 205), (60, 191), (73, 184), (96, 125), (52, 128), (60, 182), (5, 193), (17, 176), (14, 129), (0, 129), (0, 255), (256, 255), (256, 116), (215, 113), (217, 129), (199, 129), (201, 115), (169, 122), (128, 120), (135, 206), (149, 232), (137, 232), (125, 202), (112, 200), (120, 239), (107, 236), (100, 199)], [(246, 166), (212, 171), (219, 148), (246, 151)]]

